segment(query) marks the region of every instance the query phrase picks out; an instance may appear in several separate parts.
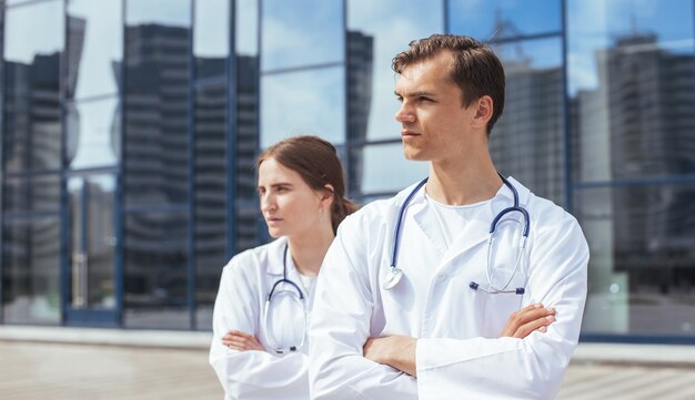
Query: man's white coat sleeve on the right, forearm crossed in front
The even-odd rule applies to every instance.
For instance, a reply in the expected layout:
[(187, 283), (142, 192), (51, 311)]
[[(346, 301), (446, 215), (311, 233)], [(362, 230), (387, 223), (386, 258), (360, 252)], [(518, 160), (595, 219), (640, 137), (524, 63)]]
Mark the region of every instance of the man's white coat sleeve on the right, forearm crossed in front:
[[(586, 300), (588, 246), (576, 219), (563, 212), (540, 232), (530, 254), (524, 304), (557, 310), (546, 334), (525, 339), (420, 339), (416, 369), (422, 400), (553, 399), (576, 347)], [(494, 312), (494, 310), (487, 310)]]

